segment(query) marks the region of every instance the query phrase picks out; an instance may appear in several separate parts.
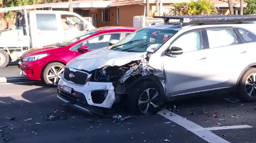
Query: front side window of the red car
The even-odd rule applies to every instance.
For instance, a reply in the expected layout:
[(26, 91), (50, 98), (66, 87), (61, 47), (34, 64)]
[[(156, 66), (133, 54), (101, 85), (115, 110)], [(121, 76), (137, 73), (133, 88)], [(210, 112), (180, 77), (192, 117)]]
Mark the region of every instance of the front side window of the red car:
[(89, 50), (96, 50), (100, 49), (101, 47), (109, 46), (110, 40), (120, 40), (120, 36), (121, 33), (107, 33), (84, 41), (84, 45), (88, 46)]

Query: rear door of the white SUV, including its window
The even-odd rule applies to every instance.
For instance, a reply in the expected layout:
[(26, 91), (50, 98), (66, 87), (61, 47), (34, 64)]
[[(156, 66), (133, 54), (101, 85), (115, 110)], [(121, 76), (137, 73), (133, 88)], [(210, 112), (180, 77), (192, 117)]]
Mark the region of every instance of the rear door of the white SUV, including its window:
[(247, 66), (247, 47), (241, 43), (231, 27), (206, 29), (210, 55), (211, 78), (216, 81), (209, 88), (228, 88), (237, 84), (242, 70)]

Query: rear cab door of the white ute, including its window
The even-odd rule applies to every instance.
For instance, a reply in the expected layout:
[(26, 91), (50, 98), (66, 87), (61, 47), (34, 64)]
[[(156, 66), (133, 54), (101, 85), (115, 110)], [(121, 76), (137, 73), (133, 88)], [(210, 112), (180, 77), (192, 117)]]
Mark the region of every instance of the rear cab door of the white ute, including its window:
[(56, 14), (36, 13), (36, 34), (34, 47), (49, 45), (59, 41), (59, 23)]

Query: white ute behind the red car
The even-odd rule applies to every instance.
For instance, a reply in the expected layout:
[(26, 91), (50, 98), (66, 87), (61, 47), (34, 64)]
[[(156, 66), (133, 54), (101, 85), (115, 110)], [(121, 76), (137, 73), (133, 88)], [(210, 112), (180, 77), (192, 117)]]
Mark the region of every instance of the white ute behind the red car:
[[(0, 12), (12, 10), (21, 10), (24, 13), (17, 15), (19, 18), (16, 29), (0, 31), (0, 68), (7, 66), (9, 59), (16, 61), (24, 52), (32, 48), (61, 42), (83, 31), (95, 29), (87, 19), (74, 12), (51, 10), (27, 12), (26, 7), (0, 8)], [(73, 28), (63, 29), (64, 18)]]

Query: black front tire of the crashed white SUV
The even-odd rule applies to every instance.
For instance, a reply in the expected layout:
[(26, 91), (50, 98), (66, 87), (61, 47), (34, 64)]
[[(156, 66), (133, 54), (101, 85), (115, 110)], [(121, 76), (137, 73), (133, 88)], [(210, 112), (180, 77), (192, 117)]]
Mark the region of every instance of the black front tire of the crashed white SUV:
[[(147, 113), (142, 113), (142, 111), (139, 108), (139, 104), (138, 104), (139, 98), (140, 98), (141, 94), (143, 93), (143, 91), (148, 88), (154, 88), (158, 91), (159, 96), (157, 98), (155, 98), (155, 100), (152, 100), (152, 102), (154, 102), (155, 105), (158, 105), (158, 107), (155, 108), (154, 106), (149, 104), (151, 107), (151, 111), (149, 111)], [(160, 111), (162, 108), (161, 100), (162, 99), (161, 99), (160, 87), (153, 81), (142, 81), (142, 82), (139, 82), (138, 84), (136, 84), (133, 87), (133, 89), (130, 89), (130, 93), (128, 94), (128, 97), (127, 97), (127, 107), (126, 108), (129, 112), (134, 113), (134, 114), (155, 114), (158, 111)], [(145, 103), (142, 106), (146, 106), (146, 104), (147, 103)]]

